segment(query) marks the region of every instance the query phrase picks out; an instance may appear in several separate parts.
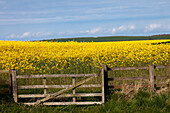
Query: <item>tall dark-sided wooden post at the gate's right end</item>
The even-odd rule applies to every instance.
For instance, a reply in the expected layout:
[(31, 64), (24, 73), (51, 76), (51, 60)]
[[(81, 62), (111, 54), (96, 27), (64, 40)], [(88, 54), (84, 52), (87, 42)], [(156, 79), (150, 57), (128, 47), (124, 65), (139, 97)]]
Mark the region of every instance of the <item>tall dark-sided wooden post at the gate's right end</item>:
[(102, 103), (106, 102), (106, 96), (108, 94), (108, 70), (107, 66), (102, 66)]

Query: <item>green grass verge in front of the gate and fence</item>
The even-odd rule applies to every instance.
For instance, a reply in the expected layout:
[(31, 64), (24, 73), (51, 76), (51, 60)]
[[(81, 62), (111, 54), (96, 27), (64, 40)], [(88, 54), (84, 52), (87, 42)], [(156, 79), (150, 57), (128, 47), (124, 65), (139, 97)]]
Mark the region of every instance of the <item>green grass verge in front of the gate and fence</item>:
[(152, 94), (139, 91), (132, 98), (115, 94), (104, 105), (92, 106), (25, 106), (17, 105), (10, 96), (0, 98), (0, 112), (3, 113), (168, 113), (170, 112), (169, 93)]

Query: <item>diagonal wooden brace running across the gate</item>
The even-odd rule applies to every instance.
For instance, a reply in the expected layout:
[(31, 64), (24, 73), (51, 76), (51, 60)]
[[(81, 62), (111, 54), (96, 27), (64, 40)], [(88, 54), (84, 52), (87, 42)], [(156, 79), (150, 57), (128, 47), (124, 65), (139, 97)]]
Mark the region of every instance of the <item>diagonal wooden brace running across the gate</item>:
[(49, 95), (49, 96), (47, 96), (47, 97), (45, 97), (45, 98), (43, 98), (43, 99), (41, 99), (41, 100), (37, 100), (37, 102), (35, 103), (35, 105), (39, 105), (39, 104), (41, 104), (41, 103), (43, 103), (43, 102), (45, 102), (45, 101), (47, 101), (47, 100), (49, 100), (49, 99), (52, 99), (52, 98), (54, 98), (54, 97), (57, 97), (57, 96), (61, 95), (62, 93), (66, 92), (66, 91), (69, 91), (69, 90), (72, 90), (72, 89), (74, 89), (74, 88), (76, 88), (76, 87), (79, 87), (79, 86), (81, 86), (82, 84), (84, 84), (84, 83), (86, 83), (86, 82), (88, 82), (88, 81), (90, 81), (91, 79), (96, 78), (96, 77), (97, 77), (97, 75), (96, 75), (96, 76), (89, 77), (89, 78), (87, 78), (87, 79), (85, 79), (85, 80), (82, 80), (82, 81), (78, 82), (78, 83), (75, 84), (75, 85), (72, 85), (72, 86), (70, 86), (70, 87), (68, 87), (68, 88), (62, 89), (62, 90), (60, 90), (59, 92), (54, 93), (53, 95)]

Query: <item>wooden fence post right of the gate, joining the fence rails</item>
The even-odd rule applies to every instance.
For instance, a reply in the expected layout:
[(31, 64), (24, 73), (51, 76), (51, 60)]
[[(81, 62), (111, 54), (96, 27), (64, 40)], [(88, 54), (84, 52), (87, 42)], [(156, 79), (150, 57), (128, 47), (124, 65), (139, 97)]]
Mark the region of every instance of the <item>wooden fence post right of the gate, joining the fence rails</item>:
[(150, 88), (151, 91), (155, 90), (155, 84), (154, 84), (154, 65), (149, 66), (149, 80), (150, 80)]

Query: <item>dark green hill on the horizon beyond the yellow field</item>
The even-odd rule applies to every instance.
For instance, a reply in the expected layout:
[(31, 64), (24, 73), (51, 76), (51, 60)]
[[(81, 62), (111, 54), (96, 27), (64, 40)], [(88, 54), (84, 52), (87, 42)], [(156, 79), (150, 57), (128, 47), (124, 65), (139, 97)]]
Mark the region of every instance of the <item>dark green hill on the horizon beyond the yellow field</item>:
[(170, 39), (170, 35), (160, 36), (103, 36), (103, 37), (82, 37), (82, 38), (63, 38), (63, 39), (49, 39), (42, 41), (50, 42), (109, 42), (109, 41), (132, 41), (132, 40), (155, 40), (155, 39)]

